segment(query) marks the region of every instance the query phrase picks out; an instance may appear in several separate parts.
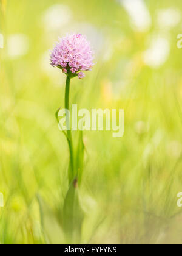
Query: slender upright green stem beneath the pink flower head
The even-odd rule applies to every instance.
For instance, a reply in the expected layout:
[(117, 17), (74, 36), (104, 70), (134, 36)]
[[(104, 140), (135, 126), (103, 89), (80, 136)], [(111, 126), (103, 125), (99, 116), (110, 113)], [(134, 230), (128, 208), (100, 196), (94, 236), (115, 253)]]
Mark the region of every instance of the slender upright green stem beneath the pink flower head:
[[(66, 110), (70, 110), (70, 105), (69, 105), (70, 80), (71, 80), (71, 77), (69, 75), (67, 75), (66, 90), (65, 90), (65, 109)], [(72, 174), (69, 176), (69, 178), (73, 179), (73, 175), (74, 175), (73, 141), (72, 141), (72, 132), (70, 129), (70, 116), (68, 116), (68, 115), (66, 115), (66, 127), (67, 127), (67, 142), (69, 144), (69, 151), (70, 151), (70, 166), (72, 169)]]

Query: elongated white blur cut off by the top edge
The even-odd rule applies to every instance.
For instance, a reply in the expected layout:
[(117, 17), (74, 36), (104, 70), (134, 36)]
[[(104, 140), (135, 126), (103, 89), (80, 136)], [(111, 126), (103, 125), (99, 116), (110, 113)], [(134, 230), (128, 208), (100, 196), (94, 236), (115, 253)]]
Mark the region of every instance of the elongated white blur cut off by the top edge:
[(152, 19), (143, 0), (120, 0), (120, 3), (129, 13), (136, 30), (144, 32), (150, 29)]

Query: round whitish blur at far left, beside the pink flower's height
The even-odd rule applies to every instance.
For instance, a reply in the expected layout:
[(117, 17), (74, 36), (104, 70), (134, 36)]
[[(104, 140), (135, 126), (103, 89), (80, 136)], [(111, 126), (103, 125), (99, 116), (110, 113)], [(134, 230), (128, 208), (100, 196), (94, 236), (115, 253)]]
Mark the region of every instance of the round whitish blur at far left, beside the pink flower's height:
[(29, 38), (24, 34), (13, 34), (7, 38), (7, 52), (12, 59), (24, 56), (29, 50)]

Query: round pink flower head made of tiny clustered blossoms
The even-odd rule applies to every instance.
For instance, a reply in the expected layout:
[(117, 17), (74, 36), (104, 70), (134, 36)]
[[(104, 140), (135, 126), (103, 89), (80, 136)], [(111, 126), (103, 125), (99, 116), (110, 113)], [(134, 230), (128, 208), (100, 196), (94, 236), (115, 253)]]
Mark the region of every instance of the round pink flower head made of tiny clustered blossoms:
[(89, 71), (93, 67), (93, 51), (83, 35), (66, 35), (59, 39), (59, 43), (51, 52), (50, 62), (52, 66), (61, 68), (64, 73), (81, 79), (86, 76), (81, 71)]

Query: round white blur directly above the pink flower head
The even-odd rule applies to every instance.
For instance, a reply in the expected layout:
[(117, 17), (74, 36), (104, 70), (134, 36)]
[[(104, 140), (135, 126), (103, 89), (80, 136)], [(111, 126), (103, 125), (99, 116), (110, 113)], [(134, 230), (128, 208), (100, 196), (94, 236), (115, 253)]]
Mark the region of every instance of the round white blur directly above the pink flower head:
[(42, 24), (47, 30), (58, 30), (72, 20), (72, 11), (67, 5), (50, 6), (42, 16)]

